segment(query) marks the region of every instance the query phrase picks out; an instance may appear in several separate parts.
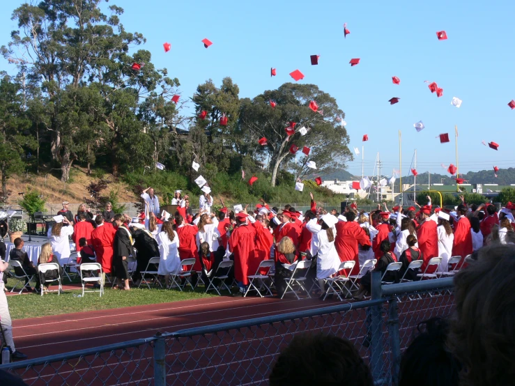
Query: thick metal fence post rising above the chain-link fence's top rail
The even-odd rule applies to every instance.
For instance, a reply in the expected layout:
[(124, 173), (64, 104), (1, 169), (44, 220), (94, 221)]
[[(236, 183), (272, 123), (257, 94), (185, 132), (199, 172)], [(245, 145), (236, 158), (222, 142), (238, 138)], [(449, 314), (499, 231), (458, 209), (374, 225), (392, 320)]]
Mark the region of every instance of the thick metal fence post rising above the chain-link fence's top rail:
[[(372, 300), (378, 300), (383, 297), (383, 293), (381, 291), (381, 271), (372, 271), (371, 272), (371, 291), (372, 291)], [(369, 334), (370, 334), (370, 364), (372, 369), (372, 376), (374, 377), (374, 382), (377, 384), (381, 384), (381, 378), (383, 376), (383, 315), (382, 315), (382, 307), (381, 306), (372, 306), (369, 311), (370, 315), (370, 324), (369, 324)]]

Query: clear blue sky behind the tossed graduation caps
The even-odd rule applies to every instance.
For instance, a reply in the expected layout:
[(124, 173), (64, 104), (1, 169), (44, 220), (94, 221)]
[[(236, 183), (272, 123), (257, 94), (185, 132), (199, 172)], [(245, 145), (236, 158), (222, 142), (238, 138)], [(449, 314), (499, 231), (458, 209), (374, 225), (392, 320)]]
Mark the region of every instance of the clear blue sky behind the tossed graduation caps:
[[(0, 44), (16, 28), (10, 1), (0, 14)], [(147, 38), (144, 45), (158, 68), (180, 80), (183, 98), (197, 85), (229, 76), (240, 97), (252, 98), (284, 82), (299, 69), (301, 83), (317, 84), (337, 99), (346, 114), (351, 148), (364, 143), (365, 173), (376, 153), (383, 172), (399, 169), (398, 132), (402, 132), (403, 175), (417, 149), (417, 171), (446, 173), (455, 164), (454, 125), (459, 131), (459, 169), (477, 171), (512, 167), (515, 110), (512, 42), (515, 3), (484, 1), (164, 1), (111, 0), (125, 9), (121, 21)], [(351, 34), (344, 39), (343, 24)], [(438, 41), (436, 31), (447, 31)], [(203, 38), (213, 42), (209, 49)], [(164, 53), (162, 44), (171, 43)], [(321, 55), (319, 65), (309, 56)], [(348, 64), (360, 58), (359, 65)], [(270, 67), (277, 76), (270, 77)], [(0, 60), (0, 69), (10, 65)], [(12, 71), (12, 68), (11, 68)], [(401, 79), (392, 84), (392, 76)], [(424, 81), (443, 88), (437, 98)], [(453, 107), (452, 97), (463, 100)], [(387, 102), (401, 98), (397, 105)], [(416, 132), (413, 123), (423, 121)], [(440, 144), (438, 134), (452, 141)], [(482, 141), (500, 144), (498, 151)], [(361, 173), (361, 158), (348, 171)]]

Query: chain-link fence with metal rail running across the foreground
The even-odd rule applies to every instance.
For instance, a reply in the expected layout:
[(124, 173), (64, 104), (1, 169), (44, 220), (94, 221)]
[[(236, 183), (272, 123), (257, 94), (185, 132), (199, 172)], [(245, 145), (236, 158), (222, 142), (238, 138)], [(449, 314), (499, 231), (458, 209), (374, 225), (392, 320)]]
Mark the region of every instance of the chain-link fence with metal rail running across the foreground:
[(390, 286), (377, 279), (364, 302), (157, 334), (0, 369), (28, 385), (264, 386), (295, 335), (323, 332), (353, 342), (376, 385), (396, 385), (401, 353), (417, 325), (451, 314), (452, 278)]

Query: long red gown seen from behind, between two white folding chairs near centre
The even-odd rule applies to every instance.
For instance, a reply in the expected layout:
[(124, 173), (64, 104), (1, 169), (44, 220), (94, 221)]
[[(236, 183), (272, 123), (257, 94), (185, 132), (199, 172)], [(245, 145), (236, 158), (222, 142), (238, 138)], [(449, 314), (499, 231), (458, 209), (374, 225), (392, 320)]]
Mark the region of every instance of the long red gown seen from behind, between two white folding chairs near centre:
[(245, 286), (249, 284), (247, 275), (254, 275), (259, 266), (255, 247), (256, 229), (252, 225), (238, 226), (229, 237), (229, 248), (234, 254), (234, 277)]

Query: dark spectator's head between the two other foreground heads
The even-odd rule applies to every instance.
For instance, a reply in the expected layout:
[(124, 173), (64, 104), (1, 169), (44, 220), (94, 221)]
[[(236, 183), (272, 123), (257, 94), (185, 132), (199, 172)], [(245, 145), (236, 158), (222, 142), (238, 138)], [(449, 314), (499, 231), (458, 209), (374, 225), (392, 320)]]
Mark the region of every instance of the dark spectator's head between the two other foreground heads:
[(402, 355), (399, 386), (457, 386), (461, 365), (447, 348), (449, 323), (431, 318), (417, 330)]

